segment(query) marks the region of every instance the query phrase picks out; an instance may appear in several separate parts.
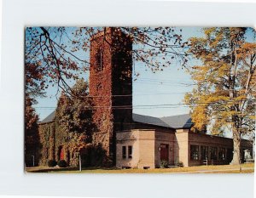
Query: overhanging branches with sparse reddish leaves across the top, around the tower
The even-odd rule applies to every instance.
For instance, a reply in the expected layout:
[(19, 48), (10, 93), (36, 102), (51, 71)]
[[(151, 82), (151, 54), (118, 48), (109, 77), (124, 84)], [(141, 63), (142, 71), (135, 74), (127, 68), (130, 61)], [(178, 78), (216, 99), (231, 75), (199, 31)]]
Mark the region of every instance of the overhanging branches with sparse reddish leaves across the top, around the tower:
[[(132, 56), (153, 72), (180, 62), (187, 62), (182, 30), (174, 27), (113, 27), (133, 41)], [(106, 27), (27, 27), (25, 62), (28, 70), (40, 71), (33, 91), (56, 84), (66, 93), (72, 91), (68, 80), (77, 80), (89, 70), (90, 38)], [(105, 39), (105, 42), (108, 42)], [(111, 43), (109, 43), (111, 45)], [(127, 52), (128, 53), (128, 52)], [(130, 53), (130, 52), (129, 52)], [(138, 74), (137, 74), (138, 75)], [(31, 76), (26, 75), (26, 79)], [(40, 90), (38, 89), (40, 88)]]

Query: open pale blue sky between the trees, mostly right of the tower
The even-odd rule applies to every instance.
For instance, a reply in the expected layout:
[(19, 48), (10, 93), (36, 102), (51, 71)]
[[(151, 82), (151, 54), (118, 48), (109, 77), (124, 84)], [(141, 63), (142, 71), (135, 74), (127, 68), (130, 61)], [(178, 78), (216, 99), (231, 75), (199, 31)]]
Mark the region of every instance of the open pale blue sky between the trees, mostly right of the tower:
[[(201, 27), (177, 27), (183, 29), (183, 40), (189, 37), (203, 37)], [(79, 52), (79, 56), (88, 56)], [(200, 64), (198, 60), (189, 60), (189, 65)], [(178, 63), (164, 68), (163, 71), (146, 71), (146, 67), (142, 63), (135, 62), (134, 68), (140, 73), (137, 81), (133, 81), (133, 112), (148, 116), (174, 116), (189, 113), (189, 108), (183, 105), (183, 97), (185, 93), (192, 91), (191, 78), (189, 73), (181, 68)], [(133, 71), (134, 72), (134, 71)], [(81, 76), (88, 80), (88, 73)], [(73, 84), (73, 82), (70, 82)], [(46, 90), (45, 98), (38, 98), (38, 104), (34, 105), (39, 119), (43, 120), (48, 116), (57, 104), (56, 86)], [(137, 105), (174, 105), (142, 108)]]

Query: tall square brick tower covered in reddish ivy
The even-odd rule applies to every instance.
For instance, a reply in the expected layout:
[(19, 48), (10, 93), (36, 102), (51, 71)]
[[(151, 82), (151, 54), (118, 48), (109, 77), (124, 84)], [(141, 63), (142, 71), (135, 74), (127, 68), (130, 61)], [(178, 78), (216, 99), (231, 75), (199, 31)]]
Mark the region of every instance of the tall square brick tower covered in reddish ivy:
[(90, 40), (90, 96), (93, 97), (96, 133), (115, 164), (115, 133), (132, 122), (132, 41), (119, 28), (106, 27)]

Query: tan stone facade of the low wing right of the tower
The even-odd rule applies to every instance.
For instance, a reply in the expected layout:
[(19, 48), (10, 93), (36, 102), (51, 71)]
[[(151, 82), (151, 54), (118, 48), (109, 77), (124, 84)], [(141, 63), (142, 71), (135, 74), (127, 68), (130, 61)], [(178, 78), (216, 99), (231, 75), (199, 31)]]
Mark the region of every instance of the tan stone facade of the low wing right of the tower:
[[(160, 167), (163, 157), (161, 150), (166, 148), (168, 150), (165, 160), (169, 166), (181, 163), (184, 167), (200, 166), (206, 165), (206, 162), (209, 165), (229, 164), (233, 155), (232, 139), (193, 133), (189, 129), (132, 129), (117, 133), (116, 138), (116, 166), (119, 168)], [(163, 145), (166, 148), (163, 148)], [(130, 155), (127, 153), (128, 147), (132, 150)], [(193, 151), (193, 148), (196, 150)], [(207, 152), (204, 153), (202, 149)], [(244, 150), (249, 150), (250, 154), (253, 154), (251, 141), (241, 140), (241, 154)], [(244, 156), (241, 162), (243, 159)]]

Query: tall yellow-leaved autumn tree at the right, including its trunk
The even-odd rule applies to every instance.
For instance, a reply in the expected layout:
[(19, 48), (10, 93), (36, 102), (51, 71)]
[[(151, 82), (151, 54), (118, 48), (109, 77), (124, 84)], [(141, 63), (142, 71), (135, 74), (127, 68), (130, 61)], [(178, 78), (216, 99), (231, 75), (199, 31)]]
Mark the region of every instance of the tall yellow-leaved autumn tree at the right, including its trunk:
[(233, 134), (232, 164), (240, 163), (241, 137), (255, 130), (256, 43), (251, 28), (206, 28), (190, 38), (189, 53), (201, 61), (189, 69), (195, 88), (185, 96), (195, 129)]

